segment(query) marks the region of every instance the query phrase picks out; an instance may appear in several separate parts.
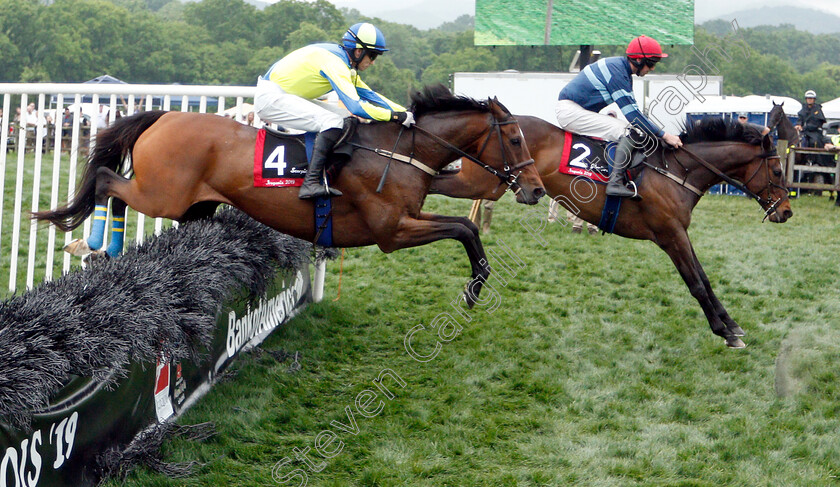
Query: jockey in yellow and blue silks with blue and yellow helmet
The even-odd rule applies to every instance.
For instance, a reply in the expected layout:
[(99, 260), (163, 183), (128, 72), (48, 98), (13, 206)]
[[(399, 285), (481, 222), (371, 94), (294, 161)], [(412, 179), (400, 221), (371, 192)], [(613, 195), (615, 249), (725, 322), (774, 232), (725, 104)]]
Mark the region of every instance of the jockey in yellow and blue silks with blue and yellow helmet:
[[(301, 198), (340, 196), (321, 183), (327, 156), (341, 136), (344, 118), (352, 115), (376, 121), (396, 121), (406, 126), (414, 116), (388, 98), (371, 90), (359, 77), (387, 51), (385, 36), (368, 23), (350, 27), (342, 44), (312, 44), (274, 63), (257, 81), (254, 105), (257, 115), (283, 127), (317, 132), (312, 161)], [(316, 98), (335, 91), (346, 109)]]

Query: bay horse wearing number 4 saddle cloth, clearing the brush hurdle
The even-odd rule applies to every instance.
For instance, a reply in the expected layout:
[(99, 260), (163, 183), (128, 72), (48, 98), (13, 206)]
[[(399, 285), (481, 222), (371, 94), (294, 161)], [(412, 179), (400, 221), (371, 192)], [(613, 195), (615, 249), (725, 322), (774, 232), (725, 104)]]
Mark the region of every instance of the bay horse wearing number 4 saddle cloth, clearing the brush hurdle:
[[(497, 181), (504, 180), (520, 203), (537, 203), (545, 190), (516, 119), (498, 100), (425, 89), (414, 93), (412, 102), (417, 123), (411, 129), (387, 122), (359, 125), (358, 146), (369, 150), (356, 149), (334, 178), (344, 196), (332, 200), (333, 245), (376, 244), (392, 252), (458, 240), (472, 267), (473, 280), (465, 292), (472, 306), (490, 274), (480, 264), (486, 262), (484, 248), (467, 218), (421, 211), (432, 175), (465, 157), (484, 165)], [(73, 200), (33, 218), (69, 231), (95, 206), (106, 206), (108, 198), (114, 198), (115, 216), (124, 215), (128, 205), (177, 221), (208, 217), (225, 203), (277, 231), (313, 241), (317, 228), (312, 201), (298, 199), (294, 187), (254, 187), (256, 137), (257, 129), (210, 114), (153, 111), (121, 118), (97, 134)], [(372, 149), (383, 147), (411, 154), (426, 168), (390, 164), (387, 181), (377, 192), (389, 158)], [(129, 170), (131, 179), (120, 175)]]

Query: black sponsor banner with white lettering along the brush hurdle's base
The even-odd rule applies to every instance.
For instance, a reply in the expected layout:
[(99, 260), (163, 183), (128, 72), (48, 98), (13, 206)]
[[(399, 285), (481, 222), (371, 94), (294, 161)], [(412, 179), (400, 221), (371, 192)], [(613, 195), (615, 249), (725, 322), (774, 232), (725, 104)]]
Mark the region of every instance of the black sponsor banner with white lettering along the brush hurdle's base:
[[(243, 293), (244, 294), (244, 293)], [(131, 364), (127, 377), (105, 388), (72, 377), (33, 416), (30, 431), (0, 423), (0, 487), (92, 486), (96, 460), (123, 448), (156, 422), (173, 420), (206, 393), (237, 354), (264, 340), (311, 302), (309, 266), (278, 271), (254, 305), (244, 298), (222, 307), (213, 344), (201, 364)]]

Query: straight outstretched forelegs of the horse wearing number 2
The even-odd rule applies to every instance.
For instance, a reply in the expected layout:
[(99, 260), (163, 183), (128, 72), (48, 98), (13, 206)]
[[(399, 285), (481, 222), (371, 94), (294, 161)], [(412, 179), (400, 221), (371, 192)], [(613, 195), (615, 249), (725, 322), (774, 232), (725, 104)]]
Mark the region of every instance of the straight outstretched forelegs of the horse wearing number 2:
[[(746, 346), (744, 342), (735, 336), (732, 330), (720, 319), (715, 303), (710, 297), (709, 289), (711, 289), (711, 286), (707, 287), (708, 279), (706, 279), (706, 283), (703, 282), (703, 277), (701, 277), (705, 276), (703, 268), (700, 267), (699, 261), (694, 255), (694, 249), (691, 247), (691, 241), (688, 239), (685, 230), (680, 228), (675, 230), (673, 235), (668, 236), (657, 235), (657, 243), (677, 267), (691, 295), (700, 303), (712, 332), (723, 337), (727, 346), (744, 348)], [(718, 304), (720, 303), (718, 302)]]

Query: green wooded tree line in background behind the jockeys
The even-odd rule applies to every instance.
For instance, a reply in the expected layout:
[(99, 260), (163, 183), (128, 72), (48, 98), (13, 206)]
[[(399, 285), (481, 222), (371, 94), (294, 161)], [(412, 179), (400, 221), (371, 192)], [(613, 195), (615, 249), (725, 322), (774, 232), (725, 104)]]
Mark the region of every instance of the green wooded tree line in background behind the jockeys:
[[(348, 25), (369, 20), (326, 0), (282, 0), (258, 10), (243, 0), (0, 0), (2, 81), (79, 82), (111, 74), (134, 83), (255, 83), (274, 61), (311, 42), (336, 42)], [(411, 89), (447, 83), (455, 71), (565, 71), (575, 47), (473, 45), (472, 18), (440, 28), (372, 20), (392, 52), (365, 80), (405, 103)], [(723, 43), (723, 44), (721, 44)], [(840, 34), (813, 35), (791, 26), (739, 29), (722, 21), (698, 26), (695, 44), (710, 51), (710, 75), (724, 76), (727, 94), (787, 95), (816, 90), (840, 96)], [(605, 56), (623, 46), (596, 46)], [(657, 72), (697, 64), (697, 50), (673, 46)]]

